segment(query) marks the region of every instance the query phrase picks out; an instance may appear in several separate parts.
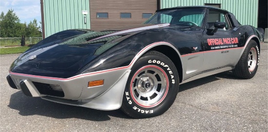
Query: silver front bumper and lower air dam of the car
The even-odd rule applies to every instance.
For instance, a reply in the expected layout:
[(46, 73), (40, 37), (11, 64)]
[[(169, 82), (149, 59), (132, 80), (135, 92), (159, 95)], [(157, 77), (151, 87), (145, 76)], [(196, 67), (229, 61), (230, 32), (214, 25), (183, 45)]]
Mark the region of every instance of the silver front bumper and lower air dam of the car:
[[(115, 110), (121, 107), (129, 74), (128, 68), (82, 74), (70, 78), (11, 72), (7, 80), (12, 88), (21, 89), (28, 96), (39, 96), (58, 103), (98, 110)], [(104, 79), (102, 86), (88, 87), (89, 81), (100, 79)]]

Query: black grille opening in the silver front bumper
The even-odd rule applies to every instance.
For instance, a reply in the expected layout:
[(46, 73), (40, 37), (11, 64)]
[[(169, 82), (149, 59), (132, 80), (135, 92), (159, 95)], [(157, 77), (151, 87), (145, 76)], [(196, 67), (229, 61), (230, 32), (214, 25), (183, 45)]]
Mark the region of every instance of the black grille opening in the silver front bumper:
[(36, 86), (40, 94), (56, 96), (56, 97), (64, 97), (63, 90), (59, 85), (40, 83), (40, 82), (33, 82), (33, 84)]

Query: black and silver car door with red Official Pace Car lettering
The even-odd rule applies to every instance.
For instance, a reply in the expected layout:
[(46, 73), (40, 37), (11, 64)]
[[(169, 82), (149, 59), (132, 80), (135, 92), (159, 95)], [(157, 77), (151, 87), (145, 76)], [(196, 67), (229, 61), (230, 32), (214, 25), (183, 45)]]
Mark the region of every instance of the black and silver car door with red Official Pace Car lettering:
[[(225, 22), (226, 26), (211, 33), (215, 28), (215, 22)], [(205, 50), (203, 71), (234, 65), (233, 52), (230, 49), (237, 47), (238, 39), (231, 36), (230, 21), (226, 13), (209, 10), (206, 29), (203, 32), (203, 43)]]

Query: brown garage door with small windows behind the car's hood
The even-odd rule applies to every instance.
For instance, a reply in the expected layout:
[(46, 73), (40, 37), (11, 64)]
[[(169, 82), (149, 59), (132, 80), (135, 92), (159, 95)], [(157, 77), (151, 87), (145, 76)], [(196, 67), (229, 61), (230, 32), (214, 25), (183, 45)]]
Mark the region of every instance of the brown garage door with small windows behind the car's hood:
[(91, 29), (141, 24), (157, 8), (157, 0), (90, 0)]

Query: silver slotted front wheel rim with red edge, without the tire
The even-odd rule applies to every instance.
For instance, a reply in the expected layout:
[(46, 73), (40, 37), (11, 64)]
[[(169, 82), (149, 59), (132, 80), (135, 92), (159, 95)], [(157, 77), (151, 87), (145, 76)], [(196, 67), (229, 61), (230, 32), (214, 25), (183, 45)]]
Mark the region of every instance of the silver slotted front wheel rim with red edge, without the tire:
[(130, 87), (134, 102), (148, 108), (158, 105), (165, 98), (169, 80), (162, 68), (148, 65), (134, 74)]

